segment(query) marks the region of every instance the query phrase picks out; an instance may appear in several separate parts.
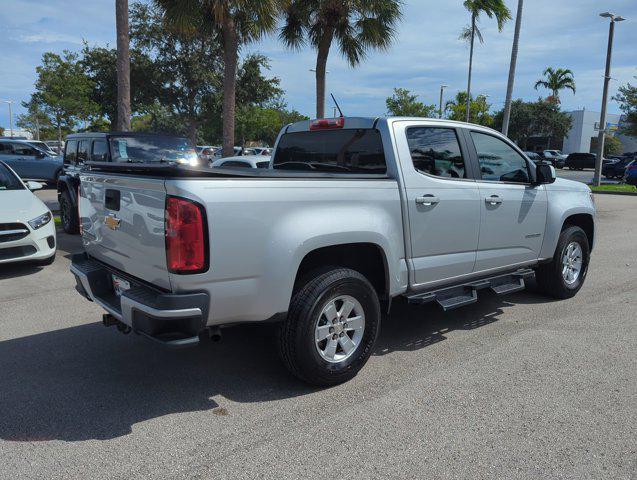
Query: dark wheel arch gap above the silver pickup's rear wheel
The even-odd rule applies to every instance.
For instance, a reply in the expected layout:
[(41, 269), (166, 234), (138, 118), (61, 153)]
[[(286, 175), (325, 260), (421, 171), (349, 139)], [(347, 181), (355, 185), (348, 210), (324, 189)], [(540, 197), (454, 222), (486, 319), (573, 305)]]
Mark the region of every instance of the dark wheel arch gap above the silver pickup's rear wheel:
[(294, 280), (294, 291), (301, 288), (310, 276), (330, 267), (351, 268), (373, 285), (378, 297), (389, 295), (389, 267), (387, 255), (376, 243), (346, 243), (316, 248), (301, 260)]

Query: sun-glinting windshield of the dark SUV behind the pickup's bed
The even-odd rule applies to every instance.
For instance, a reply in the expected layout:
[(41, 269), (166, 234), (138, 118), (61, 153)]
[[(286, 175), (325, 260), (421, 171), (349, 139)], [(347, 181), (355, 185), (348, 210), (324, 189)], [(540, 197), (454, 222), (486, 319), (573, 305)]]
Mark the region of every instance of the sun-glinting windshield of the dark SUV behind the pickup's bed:
[(113, 162), (177, 163), (196, 166), (197, 151), (186, 138), (160, 136), (111, 137)]

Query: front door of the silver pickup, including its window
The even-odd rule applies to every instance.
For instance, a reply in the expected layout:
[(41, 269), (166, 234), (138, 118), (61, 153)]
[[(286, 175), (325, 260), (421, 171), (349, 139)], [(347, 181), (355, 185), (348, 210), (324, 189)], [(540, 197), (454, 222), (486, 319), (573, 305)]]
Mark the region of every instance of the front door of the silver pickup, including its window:
[(544, 240), (547, 194), (531, 183), (530, 165), (512, 145), (471, 131), (479, 164), (481, 227), (475, 271), (537, 260)]

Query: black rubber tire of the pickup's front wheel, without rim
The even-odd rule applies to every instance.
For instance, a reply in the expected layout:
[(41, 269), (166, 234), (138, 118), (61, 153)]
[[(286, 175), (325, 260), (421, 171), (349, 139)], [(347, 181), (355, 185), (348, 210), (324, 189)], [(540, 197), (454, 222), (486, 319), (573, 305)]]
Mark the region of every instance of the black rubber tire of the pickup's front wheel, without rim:
[[(577, 243), (582, 249), (582, 267), (577, 279), (569, 284), (562, 275), (562, 257), (571, 243)], [(540, 265), (536, 270), (537, 284), (541, 292), (560, 300), (574, 297), (580, 291), (588, 273), (590, 246), (588, 237), (580, 227), (565, 225), (557, 242), (553, 260)]]

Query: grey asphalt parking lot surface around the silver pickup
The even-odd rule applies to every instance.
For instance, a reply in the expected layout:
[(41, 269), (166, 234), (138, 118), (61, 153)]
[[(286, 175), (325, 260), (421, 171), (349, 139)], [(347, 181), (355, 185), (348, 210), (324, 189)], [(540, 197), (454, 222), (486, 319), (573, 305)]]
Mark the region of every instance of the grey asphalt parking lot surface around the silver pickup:
[(0, 270), (0, 478), (637, 478), (637, 199), (598, 196), (569, 301), (398, 303), (353, 381), (290, 377), (269, 326), (166, 350), (68, 273)]

